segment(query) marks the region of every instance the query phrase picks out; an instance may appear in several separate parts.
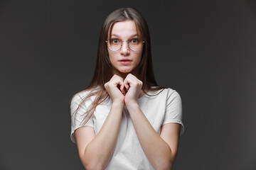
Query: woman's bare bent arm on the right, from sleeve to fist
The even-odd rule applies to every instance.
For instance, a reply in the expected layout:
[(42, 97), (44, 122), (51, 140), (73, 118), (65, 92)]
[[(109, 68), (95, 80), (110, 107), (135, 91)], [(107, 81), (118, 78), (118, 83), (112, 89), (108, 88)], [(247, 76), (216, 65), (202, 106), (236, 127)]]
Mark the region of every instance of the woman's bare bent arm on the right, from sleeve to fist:
[(124, 84), (129, 84), (129, 91), (124, 98), (124, 102), (144, 154), (154, 166), (154, 169), (171, 169), (176, 158), (181, 125), (176, 123), (162, 125), (161, 134), (159, 135), (138, 105), (142, 81), (129, 74), (124, 80)]

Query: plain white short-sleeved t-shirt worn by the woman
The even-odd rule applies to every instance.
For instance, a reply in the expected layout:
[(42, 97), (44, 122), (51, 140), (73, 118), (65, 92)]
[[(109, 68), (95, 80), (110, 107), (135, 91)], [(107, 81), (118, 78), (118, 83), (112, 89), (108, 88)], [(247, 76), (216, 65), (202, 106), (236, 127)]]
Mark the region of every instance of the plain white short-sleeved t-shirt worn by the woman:
[[(149, 95), (157, 94), (158, 91), (149, 91)], [(88, 92), (81, 92), (76, 94), (71, 101), (70, 111), (71, 114), (78, 108), (82, 98), (84, 98)], [(82, 126), (91, 126), (95, 130), (95, 135), (100, 132), (103, 123), (105, 122), (108, 113), (110, 112), (112, 101), (106, 101), (105, 103), (97, 106), (95, 113), (92, 118), (85, 124), (82, 125), (83, 119), (82, 114), (85, 113), (90, 103), (95, 97), (89, 98), (78, 110), (77, 115), (71, 116), (71, 140), (75, 142), (74, 131)], [(142, 109), (144, 115), (151, 123), (152, 127), (156, 132), (160, 134), (161, 125), (166, 123), (179, 123), (181, 124), (180, 135), (184, 132), (182, 118), (182, 107), (181, 107), (181, 96), (173, 89), (164, 89), (157, 96), (144, 95), (138, 99), (139, 107)], [(156, 146), (152, 146), (156, 147)], [(132, 120), (129, 116), (127, 108), (124, 106), (122, 113), (122, 122), (117, 138), (117, 145), (112, 154), (109, 164), (106, 169), (127, 169), (127, 170), (138, 170), (138, 169), (154, 169), (149, 160), (146, 158), (137, 134), (132, 125)]]

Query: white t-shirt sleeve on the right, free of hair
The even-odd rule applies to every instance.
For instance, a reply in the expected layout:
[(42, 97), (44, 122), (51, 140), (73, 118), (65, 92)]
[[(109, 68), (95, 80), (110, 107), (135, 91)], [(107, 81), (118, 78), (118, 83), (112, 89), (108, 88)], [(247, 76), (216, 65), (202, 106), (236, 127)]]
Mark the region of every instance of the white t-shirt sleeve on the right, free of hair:
[(184, 125), (182, 123), (182, 103), (181, 96), (177, 91), (168, 89), (167, 100), (166, 100), (166, 111), (164, 114), (163, 124), (166, 123), (178, 123), (181, 124), (180, 135), (184, 132)]

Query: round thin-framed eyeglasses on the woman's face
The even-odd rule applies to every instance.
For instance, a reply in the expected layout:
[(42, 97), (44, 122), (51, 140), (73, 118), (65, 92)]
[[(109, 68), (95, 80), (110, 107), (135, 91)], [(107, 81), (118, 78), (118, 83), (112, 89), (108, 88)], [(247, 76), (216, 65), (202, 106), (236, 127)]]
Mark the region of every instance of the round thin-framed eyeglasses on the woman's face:
[(112, 39), (106, 40), (107, 48), (114, 52), (121, 49), (123, 42), (127, 42), (129, 49), (134, 52), (142, 50), (142, 47), (144, 44), (144, 41), (140, 40), (139, 38), (133, 38), (128, 41), (122, 41), (122, 40), (119, 40), (118, 38), (112, 38)]

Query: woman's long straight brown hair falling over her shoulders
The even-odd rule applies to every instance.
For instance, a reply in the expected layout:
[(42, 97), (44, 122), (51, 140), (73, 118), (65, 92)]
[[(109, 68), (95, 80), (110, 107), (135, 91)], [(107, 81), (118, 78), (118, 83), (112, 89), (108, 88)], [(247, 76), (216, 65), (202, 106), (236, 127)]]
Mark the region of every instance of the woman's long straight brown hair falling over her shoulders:
[[(90, 82), (90, 85), (84, 91), (90, 91), (90, 93), (82, 98), (82, 101), (76, 111), (80, 108), (81, 104), (85, 102), (91, 96), (96, 96), (95, 100), (92, 101), (89, 108), (87, 108), (83, 123), (87, 123), (87, 121), (91, 118), (92, 114), (95, 111), (95, 108), (106, 99), (109, 99), (109, 95), (105, 90), (105, 83), (110, 81), (113, 76), (112, 73), (112, 64), (108, 57), (107, 45), (105, 40), (107, 40), (108, 33), (112, 33), (112, 28), (114, 23), (119, 21), (134, 21), (137, 30), (141, 33), (142, 39), (144, 40), (144, 47), (142, 51), (142, 60), (140, 61), (138, 67), (138, 75), (137, 78), (143, 82), (142, 91), (146, 94), (146, 91), (159, 91), (160, 89), (164, 89), (161, 86), (156, 84), (156, 79), (154, 77), (153, 65), (151, 59), (151, 42), (149, 35), (149, 28), (147, 26), (146, 20), (142, 16), (139, 11), (134, 10), (134, 8), (119, 8), (105, 19), (105, 22), (102, 24), (102, 28), (100, 31), (100, 39), (97, 50), (97, 61), (95, 65), (95, 72)], [(84, 92), (80, 91), (78, 94)], [(160, 91), (161, 92), (161, 91)], [(75, 94), (77, 95), (77, 94)], [(74, 95), (74, 96), (75, 96)], [(73, 97), (74, 97), (73, 96)], [(70, 103), (72, 98), (70, 100)], [(70, 106), (69, 106), (70, 108)]]

